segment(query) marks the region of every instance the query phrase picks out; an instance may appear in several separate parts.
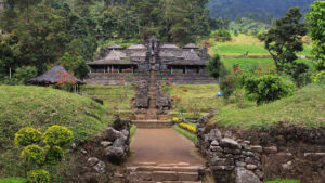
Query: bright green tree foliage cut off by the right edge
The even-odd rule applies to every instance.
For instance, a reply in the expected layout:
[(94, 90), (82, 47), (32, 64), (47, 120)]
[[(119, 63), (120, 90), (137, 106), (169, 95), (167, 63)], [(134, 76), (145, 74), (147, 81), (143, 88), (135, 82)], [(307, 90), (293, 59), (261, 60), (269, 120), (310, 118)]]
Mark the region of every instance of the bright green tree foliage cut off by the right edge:
[(325, 69), (325, 2), (315, 1), (310, 6), (311, 12), (307, 14), (311, 27), (313, 40), (313, 58), (318, 70)]

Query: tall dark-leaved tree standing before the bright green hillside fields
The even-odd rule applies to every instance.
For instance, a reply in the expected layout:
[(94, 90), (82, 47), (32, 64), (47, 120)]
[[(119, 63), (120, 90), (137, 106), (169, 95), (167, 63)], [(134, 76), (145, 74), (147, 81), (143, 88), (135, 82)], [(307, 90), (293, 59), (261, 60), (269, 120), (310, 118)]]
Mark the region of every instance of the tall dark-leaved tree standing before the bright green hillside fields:
[(278, 75), (286, 65), (298, 58), (295, 52), (303, 50), (301, 37), (307, 35), (308, 28), (304, 23), (299, 22), (301, 17), (299, 8), (292, 8), (260, 37), (265, 41), (265, 49), (274, 60)]

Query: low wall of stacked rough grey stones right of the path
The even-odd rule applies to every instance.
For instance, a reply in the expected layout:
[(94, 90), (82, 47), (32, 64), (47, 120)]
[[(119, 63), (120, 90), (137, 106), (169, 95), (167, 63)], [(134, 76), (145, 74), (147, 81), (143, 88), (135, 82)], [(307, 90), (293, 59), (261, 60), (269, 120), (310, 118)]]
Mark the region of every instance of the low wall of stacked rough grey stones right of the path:
[(197, 121), (197, 147), (208, 159), (217, 183), (260, 183), (263, 179), (261, 155), (249, 141), (223, 136), (219, 129), (208, 129), (205, 116)]

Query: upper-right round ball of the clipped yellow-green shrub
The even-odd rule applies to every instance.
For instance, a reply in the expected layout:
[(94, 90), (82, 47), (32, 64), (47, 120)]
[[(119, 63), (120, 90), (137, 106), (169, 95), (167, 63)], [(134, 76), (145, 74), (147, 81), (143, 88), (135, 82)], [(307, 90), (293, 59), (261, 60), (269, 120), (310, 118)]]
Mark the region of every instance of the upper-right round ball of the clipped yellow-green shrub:
[(49, 146), (64, 146), (73, 139), (73, 132), (63, 126), (52, 126), (43, 134), (44, 143)]

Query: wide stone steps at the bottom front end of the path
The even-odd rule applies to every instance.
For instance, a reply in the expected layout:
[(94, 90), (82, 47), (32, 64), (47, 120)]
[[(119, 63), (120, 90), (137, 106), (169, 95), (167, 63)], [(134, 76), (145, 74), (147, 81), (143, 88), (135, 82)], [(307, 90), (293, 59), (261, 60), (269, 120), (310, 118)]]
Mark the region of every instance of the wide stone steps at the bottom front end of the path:
[(127, 168), (130, 183), (202, 183), (205, 169), (186, 162), (139, 162)]

